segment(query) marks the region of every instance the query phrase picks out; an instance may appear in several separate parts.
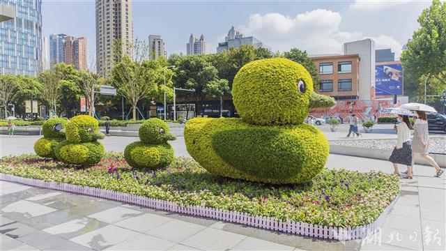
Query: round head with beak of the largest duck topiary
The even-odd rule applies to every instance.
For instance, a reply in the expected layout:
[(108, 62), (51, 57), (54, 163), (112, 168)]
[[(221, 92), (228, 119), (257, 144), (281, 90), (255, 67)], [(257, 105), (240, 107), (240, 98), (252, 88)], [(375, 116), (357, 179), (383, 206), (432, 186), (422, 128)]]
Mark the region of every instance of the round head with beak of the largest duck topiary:
[(314, 92), (305, 67), (284, 58), (247, 63), (234, 78), (232, 95), (240, 117), (254, 125), (295, 125), (303, 123), (309, 108), (334, 105)]

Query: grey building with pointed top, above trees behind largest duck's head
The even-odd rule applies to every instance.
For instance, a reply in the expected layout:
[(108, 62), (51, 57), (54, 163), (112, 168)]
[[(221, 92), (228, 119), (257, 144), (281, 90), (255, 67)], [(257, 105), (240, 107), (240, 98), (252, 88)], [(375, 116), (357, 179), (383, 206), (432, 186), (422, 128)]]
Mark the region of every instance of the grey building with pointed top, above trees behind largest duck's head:
[(236, 31), (234, 26), (232, 26), (228, 35), (224, 37), (224, 42), (218, 43), (217, 53), (229, 50), (229, 48), (238, 48), (242, 45), (252, 45), (256, 49), (263, 47), (271, 50), (270, 47), (263, 45), (261, 40), (254, 38), (253, 36), (244, 37), (242, 33)]

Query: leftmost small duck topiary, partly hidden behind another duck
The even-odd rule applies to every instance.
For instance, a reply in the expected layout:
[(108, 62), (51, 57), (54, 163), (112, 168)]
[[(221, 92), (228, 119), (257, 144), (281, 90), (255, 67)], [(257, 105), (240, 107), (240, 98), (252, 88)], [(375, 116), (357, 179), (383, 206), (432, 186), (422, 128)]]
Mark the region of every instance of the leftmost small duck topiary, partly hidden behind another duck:
[(43, 158), (56, 158), (54, 150), (63, 141), (65, 135), (61, 133), (67, 123), (66, 119), (48, 119), (43, 123), (43, 138), (38, 139), (34, 144), (34, 151)]

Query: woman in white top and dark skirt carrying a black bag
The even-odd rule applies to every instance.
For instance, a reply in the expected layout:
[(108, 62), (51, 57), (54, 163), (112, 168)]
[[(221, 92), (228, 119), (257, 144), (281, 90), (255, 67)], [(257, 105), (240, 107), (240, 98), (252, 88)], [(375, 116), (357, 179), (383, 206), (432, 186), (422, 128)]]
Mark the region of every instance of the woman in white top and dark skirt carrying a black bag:
[(410, 124), (409, 117), (406, 115), (398, 115), (397, 134), (398, 142), (394, 147), (389, 161), (393, 163), (394, 174), (399, 175), (398, 164), (407, 166), (406, 176), (403, 178), (412, 179), (412, 146), (410, 146)]

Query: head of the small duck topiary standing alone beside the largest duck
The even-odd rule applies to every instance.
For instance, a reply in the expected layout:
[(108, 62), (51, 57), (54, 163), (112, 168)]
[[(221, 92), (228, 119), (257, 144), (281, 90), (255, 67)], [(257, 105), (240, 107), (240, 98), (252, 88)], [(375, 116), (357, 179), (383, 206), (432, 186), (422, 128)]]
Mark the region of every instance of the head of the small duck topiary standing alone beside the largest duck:
[(139, 139), (144, 144), (162, 144), (176, 139), (169, 130), (167, 123), (161, 119), (148, 119), (139, 128)]

